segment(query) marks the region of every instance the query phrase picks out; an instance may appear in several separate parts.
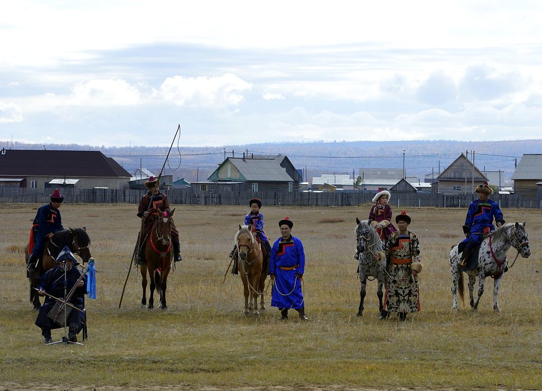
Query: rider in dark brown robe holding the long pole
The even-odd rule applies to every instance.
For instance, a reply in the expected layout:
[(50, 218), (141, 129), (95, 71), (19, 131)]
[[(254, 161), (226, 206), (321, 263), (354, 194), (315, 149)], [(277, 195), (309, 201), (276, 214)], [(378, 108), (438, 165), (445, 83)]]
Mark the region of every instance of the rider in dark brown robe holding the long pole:
[[(169, 199), (166, 194), (160, 192), (160, 182), (154, 177), (150, 177), (145, 181), (145, 187), (149, 189), (149, 192), (145, 193), (141, 197), (139, 203), (137, 216), (143, 220), (143, 232), (139, 233), (138, 243), (139, 252), (137, 255), (137, 264), (143, 265), (145, 262), (143, 259), (143, 243), (147, 234), (152, 230), (154, 225), (154, 219), (157, 216), (158, 209), (162, 212), (171, 213)], [(172, 221), (171, 225), (171, 243), (173, 245), (173, 259), (175, 262), (180, 262), (183, 258), (180, 256), (180, 243), (179, 243), (179, 231), (175, 227), (175, 223)]]

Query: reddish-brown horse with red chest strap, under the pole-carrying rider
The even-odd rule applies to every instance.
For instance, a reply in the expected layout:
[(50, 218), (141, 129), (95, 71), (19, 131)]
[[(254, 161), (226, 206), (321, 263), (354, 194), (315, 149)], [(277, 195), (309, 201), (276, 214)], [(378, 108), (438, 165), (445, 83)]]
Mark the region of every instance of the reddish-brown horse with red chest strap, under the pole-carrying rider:
[(167, 310), (166, 288), (167, 275), (171, 270), (171, 260), (173, 252), (171, 251), (171, 225), (173, 223), (171, 212), (157, 211), (157, 218), (154, 221), (151, 233), (145, 240), (145, 263), (141, 265), (141, 288), (143, 288), (143, 298), (141, 298), (141, 308), (147, 308), (147, 270), (151, 280), (151, 292), (149, 295), (149, 309), (154, 308), (154, 289), (160, 294), (160, 305), (163, 310)]

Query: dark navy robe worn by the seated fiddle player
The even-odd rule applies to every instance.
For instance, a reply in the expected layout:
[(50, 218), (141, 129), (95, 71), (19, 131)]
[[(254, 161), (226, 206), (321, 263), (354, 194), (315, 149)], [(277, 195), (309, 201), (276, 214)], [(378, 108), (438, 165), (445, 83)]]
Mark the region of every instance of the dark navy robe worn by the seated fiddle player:
[[(70, 270), (66, 272), (66, 294), (69, 294), (73, 286), (81, 276), (81, 271), (72, 266)], [(87, 290), (87, 276), (83, 277), (83, 286), (76, 288), (72, 297), (70, 297), (68, 303), (73, 304), (75, 307), (83, 309), (85, 308), (85, 294)], [(43, 289), (51, 296), (57, 298), (64, 298), (64, 270), (60, 266), (50, 269), (43, 276), (40, 277), (40, 285), (38, 289)], [(54, 307), (57, 301), (54, 298), (46, 296), (45, 302), (40, 307), (40, 313), (36, 319), (36, 326), (41, 329), (57, 329), (62, 327), (61, 325), (51, 321), (47, 314)], [(73, 309), (72, 313), (68, 316), (66, 324), (76, 323), (78, 325), (76, 331), (82, 328), (82, 322), (85, 320), (85, 314)]]

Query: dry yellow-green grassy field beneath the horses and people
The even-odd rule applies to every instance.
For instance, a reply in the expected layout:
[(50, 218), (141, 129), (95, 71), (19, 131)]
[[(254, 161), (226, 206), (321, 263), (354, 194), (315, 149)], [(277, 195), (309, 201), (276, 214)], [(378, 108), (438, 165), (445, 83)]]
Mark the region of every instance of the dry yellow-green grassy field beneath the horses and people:
[[(86, 226), (98, 269), (98, 299), (87, 301), (84, 346), (45, 346), (28, 301), (23, 250), (38, 205), (0, 205), (0, 385), (147, 385), (172, 387), (311, 386), (326, 388), (542, 389), (542, 212), (504, 210), (527, 220), (532, 255), (501, 283), (501, 315), (486, 280), (479, 312), (451, 310), (450, 246), (462, 238), (465, 210), (411, 208), (424, 270), (422, 311), (407, 322), (378, 320), (376, 282), (357, 318), (359, 281), (353, 230), (358, 208), (263, 207), (266, 232), (279, 237), (288, 216), (305, 246), (305, 301), (310, 322), (280, 322), (269, 307), (242, 316), (242, 284), (227, 255), (248, 207), (177, 206), (184, 261), (168, 280), (169, 311), (140, 309), (141, 277), (122, 285), (139, 230), (135, 205), (63, 205), (65, 227)], [(395, 210), (397, 214), (400, 211)], [(515, 257), (511, 249), (509, 258)], [(467, 292), (466, 292), (467, 293)], [(295, 312), (294, 312), (295, 314)], [(294, 315), (292, 314), (292, 315)], [(53, 339), (62, 335), (53, 332)], [(187, 386), (188, 385), (188, 386)], [(28, 388), (33, 388), (29, 386)], [(280, 388), (280, 387), (279, 387)]]

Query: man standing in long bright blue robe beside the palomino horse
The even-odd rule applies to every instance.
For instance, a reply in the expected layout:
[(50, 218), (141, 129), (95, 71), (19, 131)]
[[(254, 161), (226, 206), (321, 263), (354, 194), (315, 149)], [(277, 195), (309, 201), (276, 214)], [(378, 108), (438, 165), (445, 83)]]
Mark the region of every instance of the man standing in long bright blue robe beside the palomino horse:
[(287, 217), (279, 221), (281, 237), (275, 240), (271, 249), (269, 275), (273, 280), (271, 305), (281, 313), (281, 320), (288, 319), (288, 309), (299, 312), (301, 321), (305, 316), (305, 301), (301, 290), (305, 272), (305, 251), (301, 240), (292, 236), (294, 223)]

